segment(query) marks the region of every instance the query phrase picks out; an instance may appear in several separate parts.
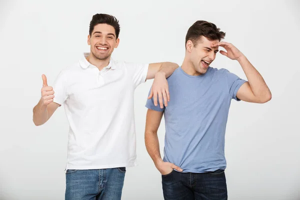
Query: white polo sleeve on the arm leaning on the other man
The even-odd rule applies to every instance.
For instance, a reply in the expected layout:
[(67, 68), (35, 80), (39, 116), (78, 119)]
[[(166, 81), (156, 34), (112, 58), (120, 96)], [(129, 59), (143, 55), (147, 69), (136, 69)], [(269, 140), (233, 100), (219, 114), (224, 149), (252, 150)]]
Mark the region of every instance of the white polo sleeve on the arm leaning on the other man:
[(132, 81), (135, 87), (146, 81), (149, 64), (125, 62), (125, 65), (132, 73)]

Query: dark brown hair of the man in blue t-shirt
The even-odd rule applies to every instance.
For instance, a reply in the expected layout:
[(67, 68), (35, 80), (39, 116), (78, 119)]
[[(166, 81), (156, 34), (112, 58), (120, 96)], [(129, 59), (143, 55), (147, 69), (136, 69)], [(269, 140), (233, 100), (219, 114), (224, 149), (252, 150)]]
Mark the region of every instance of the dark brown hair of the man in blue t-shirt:
[(225, 37), (225, 32), (220, 31), (220, 28), (217, 28), (213, 23), (198, 20), (188, 28), (185, 36), (185, 45), (188, 40), (191, 40), (196, 45), (201, 36), (209, 40), (218, 39), (220, 41)]

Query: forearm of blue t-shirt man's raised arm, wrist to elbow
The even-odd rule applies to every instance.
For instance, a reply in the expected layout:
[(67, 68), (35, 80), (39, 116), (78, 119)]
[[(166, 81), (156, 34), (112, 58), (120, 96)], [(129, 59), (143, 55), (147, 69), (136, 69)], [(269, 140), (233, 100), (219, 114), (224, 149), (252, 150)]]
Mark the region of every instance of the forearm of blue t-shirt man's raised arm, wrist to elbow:
[(255, 67), (249, 62), (249, 60), (244, 56), (240, 56), (237, 61), (239, 62), (242, 70), (244, 71), (249, 85), (253, 94), (257, 98), (268, 99), (271, 96), (271, 92), (266, 85), (263, 77), (255, 69)]

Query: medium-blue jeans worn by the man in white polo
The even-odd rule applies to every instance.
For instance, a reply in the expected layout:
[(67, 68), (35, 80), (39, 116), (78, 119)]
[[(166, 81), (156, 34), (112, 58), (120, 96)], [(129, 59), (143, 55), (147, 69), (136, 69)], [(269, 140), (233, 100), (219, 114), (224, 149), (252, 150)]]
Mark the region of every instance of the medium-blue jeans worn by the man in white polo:
[(119, 200), (125, 167), (68, 169), (65, 173), (65, 200)]

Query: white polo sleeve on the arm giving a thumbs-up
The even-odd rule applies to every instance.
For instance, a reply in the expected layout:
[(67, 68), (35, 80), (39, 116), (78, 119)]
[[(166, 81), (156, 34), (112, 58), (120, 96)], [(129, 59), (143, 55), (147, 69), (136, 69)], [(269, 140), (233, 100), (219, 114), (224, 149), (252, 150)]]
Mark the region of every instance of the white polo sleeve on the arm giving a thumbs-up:
[(60, 71), (52, 86), (54, 90), (53, 102), (58, 103), (60, 105), (63, 104), (67, 97), (65, 76), (65, 71)]

